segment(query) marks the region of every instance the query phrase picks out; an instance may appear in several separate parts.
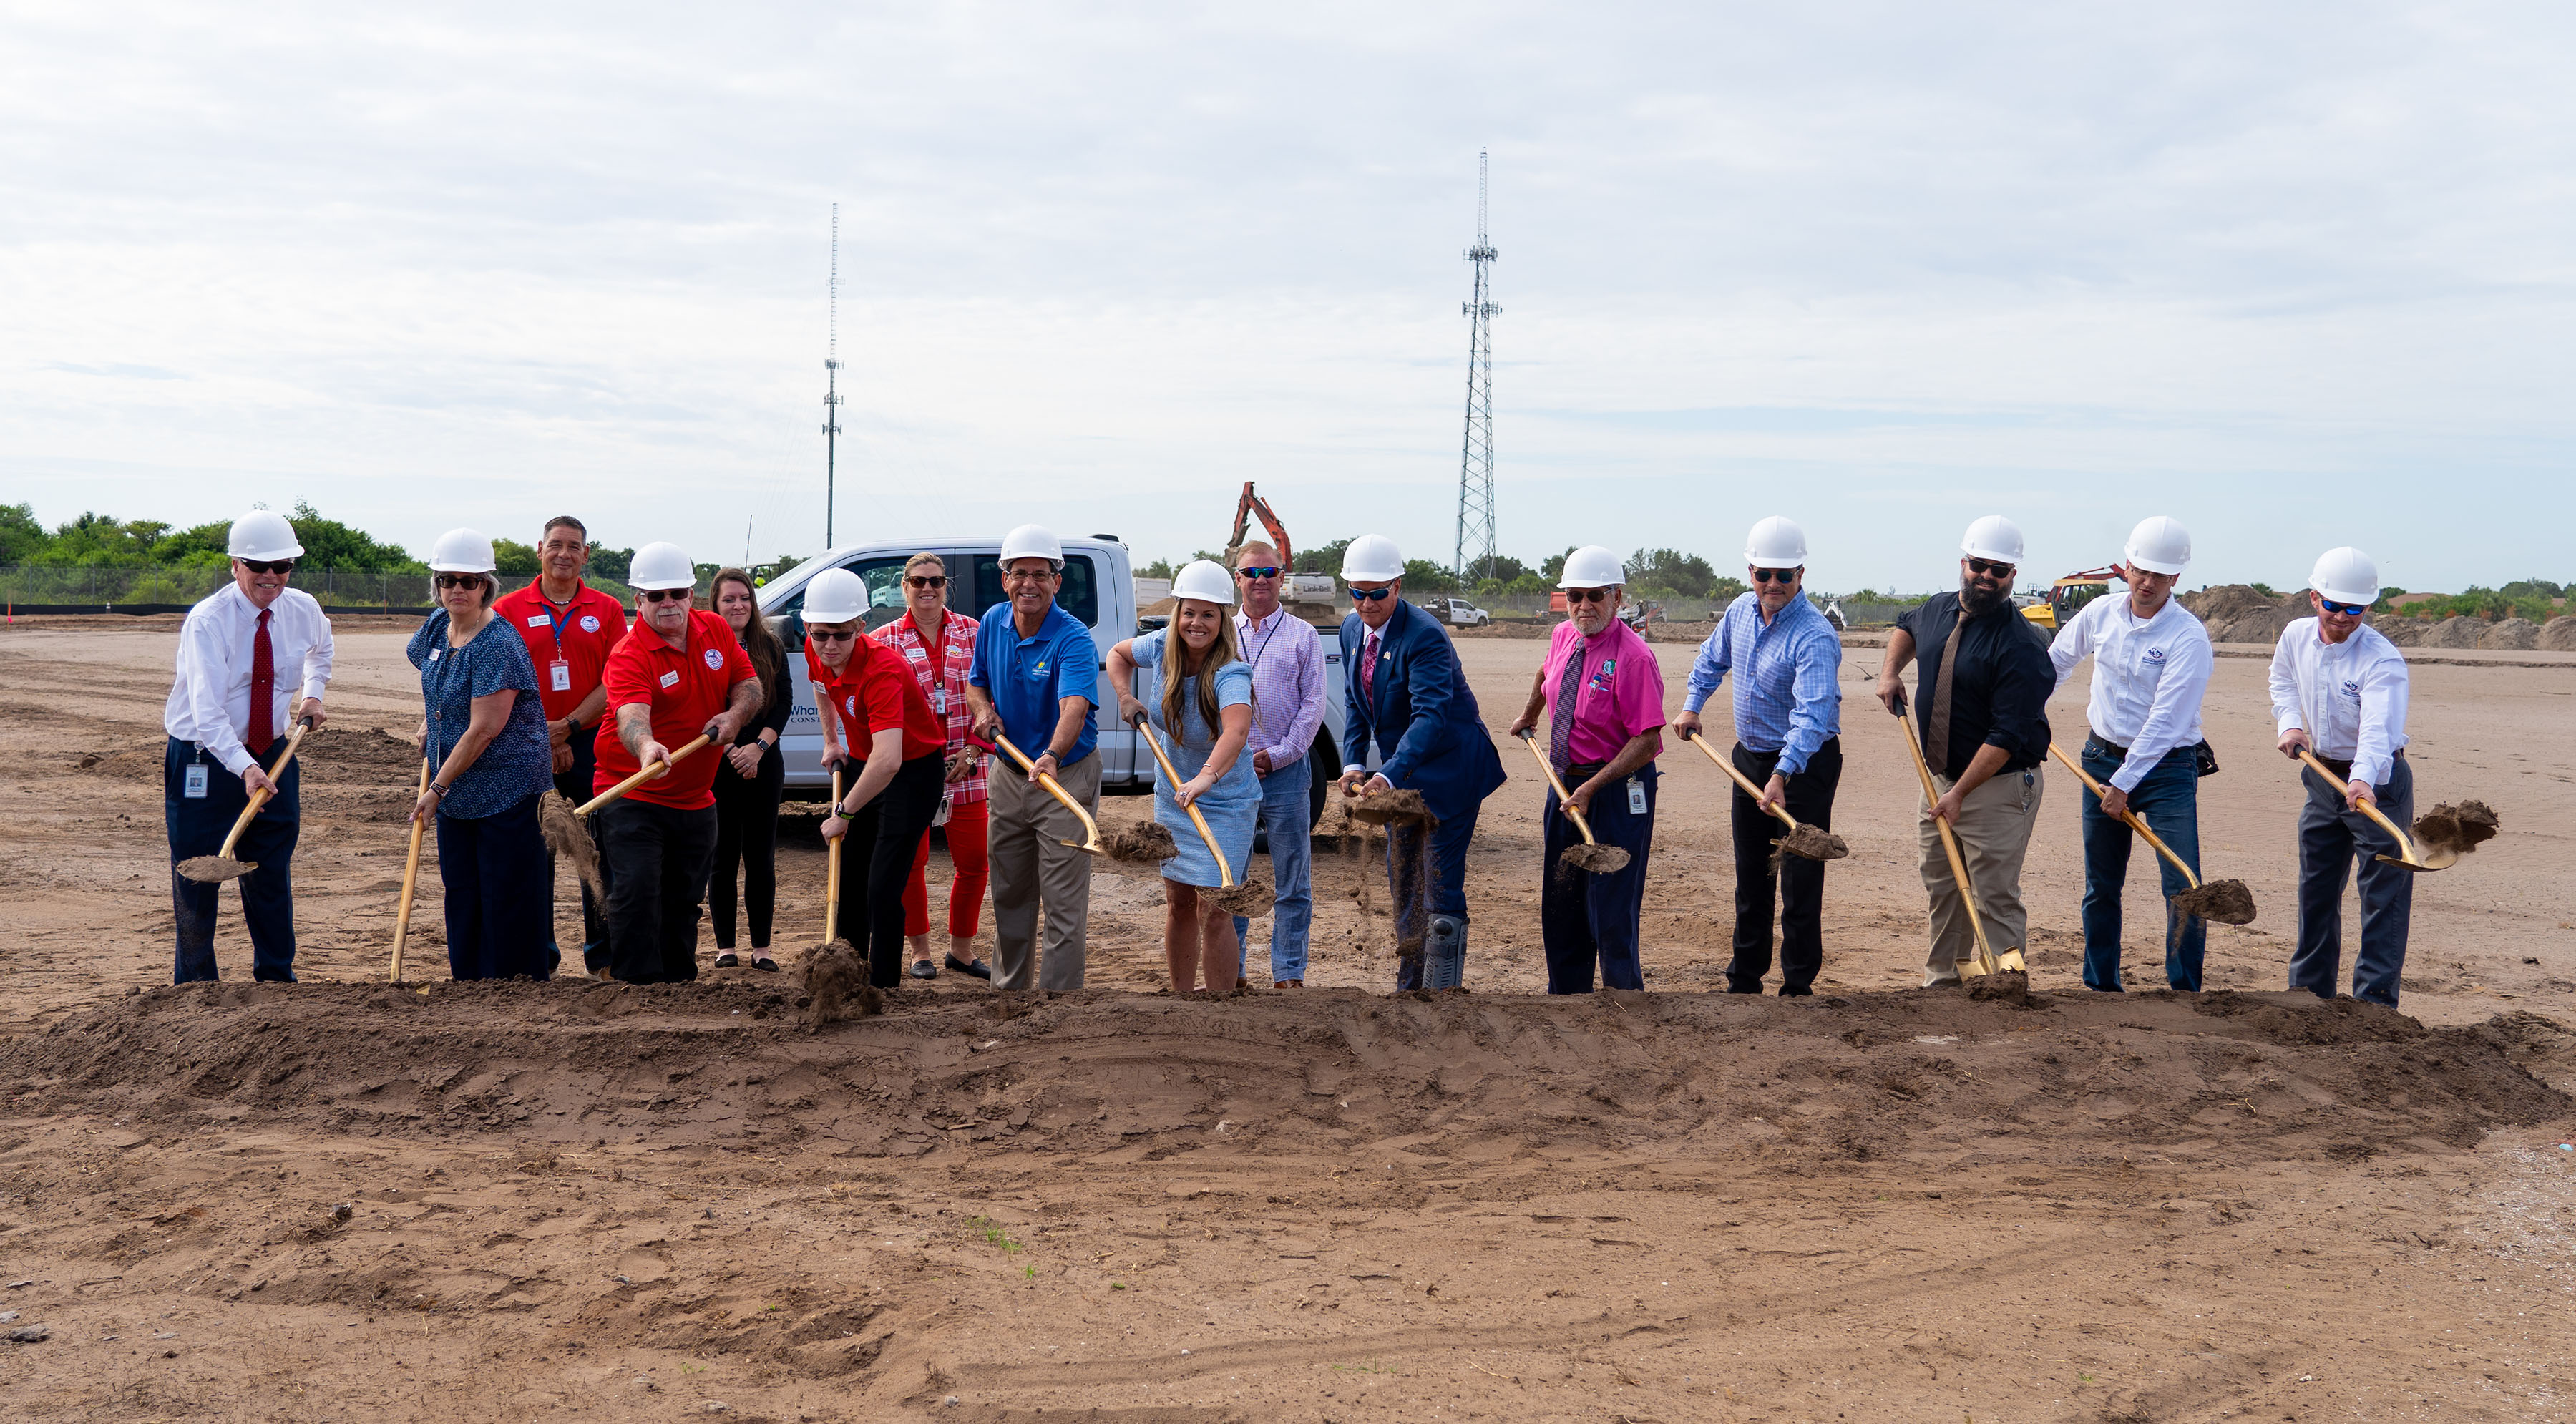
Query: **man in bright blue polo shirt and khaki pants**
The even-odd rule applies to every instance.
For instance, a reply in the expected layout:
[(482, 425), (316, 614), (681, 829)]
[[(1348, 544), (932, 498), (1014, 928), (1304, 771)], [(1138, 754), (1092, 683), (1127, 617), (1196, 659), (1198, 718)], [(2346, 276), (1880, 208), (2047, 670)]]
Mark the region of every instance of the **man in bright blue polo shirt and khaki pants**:
[[(974, 731), (1007, 736), (1084, 809), (1100, 806), (1100, 724), (1092, 690), (1100, 649), (1082, 618), (1056, 608), (1064, 543), (1041, 525), (1002, 536), (1002, 592), (1010, 618), (987, 615), (966, 672)], [(1038, 785), (1036, 773), (997, 767), (987, 863), (992, 865), (992, 986), (1082, 989), (1084, 927), (1092, 912), (1092, 857), (1082, 821)], [(1046, 904), (1046, 955), (1036, 958), (1038, 904)]]

